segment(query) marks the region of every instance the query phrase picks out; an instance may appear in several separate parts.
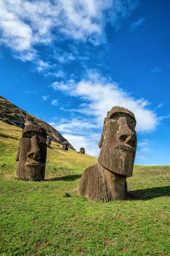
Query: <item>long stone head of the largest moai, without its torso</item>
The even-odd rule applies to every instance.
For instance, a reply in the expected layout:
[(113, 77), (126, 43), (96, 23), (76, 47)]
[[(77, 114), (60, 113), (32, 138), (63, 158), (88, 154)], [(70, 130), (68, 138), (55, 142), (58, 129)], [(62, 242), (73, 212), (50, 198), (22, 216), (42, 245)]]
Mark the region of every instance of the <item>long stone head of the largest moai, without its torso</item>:
[(98, 162), (119, 175), (131, 177), (136, 154), (136, 119), (123, 107), (113, 107), (104, 121)]

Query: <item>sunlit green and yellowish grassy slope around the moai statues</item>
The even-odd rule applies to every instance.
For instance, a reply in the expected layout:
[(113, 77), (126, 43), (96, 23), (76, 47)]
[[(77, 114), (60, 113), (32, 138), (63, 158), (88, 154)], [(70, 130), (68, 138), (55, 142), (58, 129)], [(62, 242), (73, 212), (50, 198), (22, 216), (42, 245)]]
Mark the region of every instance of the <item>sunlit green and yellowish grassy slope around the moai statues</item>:
[(20, 137), (0, 122), (1, 256), (169, 255), (170, 166), (134, 166), (127, 201), (92, 202), (77, 186), (95, 157), (52, 142), (45, 180), (19, 180)]

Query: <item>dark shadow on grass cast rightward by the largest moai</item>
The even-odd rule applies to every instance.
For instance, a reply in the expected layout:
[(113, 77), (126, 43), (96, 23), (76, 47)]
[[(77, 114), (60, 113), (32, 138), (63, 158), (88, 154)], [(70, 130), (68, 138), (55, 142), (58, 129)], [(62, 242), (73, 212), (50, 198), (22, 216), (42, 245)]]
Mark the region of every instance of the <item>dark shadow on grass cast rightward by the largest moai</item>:
[(161, 196), (170, 196), (170, 186), (128, 191), (128, 195), (130, 200), (149, 200)]

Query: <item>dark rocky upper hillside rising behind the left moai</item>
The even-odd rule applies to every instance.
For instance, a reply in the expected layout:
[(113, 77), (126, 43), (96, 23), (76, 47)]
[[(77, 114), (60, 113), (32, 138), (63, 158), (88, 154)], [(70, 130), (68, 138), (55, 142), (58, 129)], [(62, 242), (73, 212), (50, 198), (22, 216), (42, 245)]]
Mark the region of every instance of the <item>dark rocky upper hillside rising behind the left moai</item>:
[[(42, 121), (41, 119), (32, 116), (26, 111), (18, 108), (16, 105), (9, 102), (7, 99), (0, 96), (0, 120), (6, 122), (9, 125), (15, 125), (20, 128), (24, 128), (25, 125), (40, 125), (45, 128), (47, 135), (50, 136), (51, 141), (62, 144), (66, 139), (57, 131), (55, 128), (51, 127), (48, 123)], [(74, 147), (68, 143), (69, 148), (74, 149)]]

